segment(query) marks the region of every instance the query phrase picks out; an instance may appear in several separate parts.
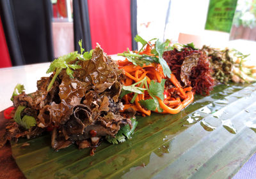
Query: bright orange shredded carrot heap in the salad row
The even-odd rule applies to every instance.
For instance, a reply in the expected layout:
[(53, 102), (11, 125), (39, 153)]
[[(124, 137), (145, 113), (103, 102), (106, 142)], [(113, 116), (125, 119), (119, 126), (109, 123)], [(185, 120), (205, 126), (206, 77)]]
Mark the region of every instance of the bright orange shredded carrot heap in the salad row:
[[(152, 46), (150, 44), (147, 44), (145, 50), (143, 50), (139, 54), (154, 55), (151, 54), (151, 49)], [(136, 53), (138, 54), (138, 52)], [(164, 76), (161, 64), (156, 64), (152, 62), (151, 64), (147, 65), (143, 64), (143, 66), (135, 66), (134, 64), (132, 64), (132, 62), (129, 62), (127, 59), (125, 59), (124, 62), (118, 61), (118, 65), (118, 68), (124, 69), (125, 71), (126, 79), (123, 82), (125, 86), (140, 82), (145, 77), (147, 78), (147, 85), (149, 85), (152, 80), (161, 83), (163, 79), (166, 79), (164, 100), (156, 96), (157, 100), (159, 101), (159, 106), (163, 109), (162, 113), (179, 113), (179, 111), (186, 108), (186, 106), (188, 106), (188, 104), (190, 104), (194, 99), (193, 92), (191, 91), (192, 87), (182, 87), (176, 76), (173, 74), (171, 74), (171, 78), (167, 78), (166, 76)], [(138, 83), (136, 83), (136, 86), (141, 87), (141, 85)], [(143, 88), (145, 88), (144, 85)], [(145, 90), (143, 94), (136, 94), (134, 92), (126, 94), (123, 97), (124, 108), (122, 111), (127, 110), (128, 108), (132, 108), (134, 111), (140, 112), (143, 117), (149, 116), (151, 114), (151, 111), (147, 110), (147, 108), (144, 108), (139, 103), (140, 100), (147, 99), (152, 99), (150, 94), (148, 94), (147, 90)], [(156, 109), (156, 112), (157, 111), (158, 110)]]

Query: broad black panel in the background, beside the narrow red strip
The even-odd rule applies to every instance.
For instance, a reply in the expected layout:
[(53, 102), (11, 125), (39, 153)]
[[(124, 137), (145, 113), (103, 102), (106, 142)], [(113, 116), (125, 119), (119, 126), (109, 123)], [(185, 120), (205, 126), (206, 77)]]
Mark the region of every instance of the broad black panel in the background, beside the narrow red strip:
[(0, 13), (13, 66), (53, 60), (50, 0), (0, 0)]

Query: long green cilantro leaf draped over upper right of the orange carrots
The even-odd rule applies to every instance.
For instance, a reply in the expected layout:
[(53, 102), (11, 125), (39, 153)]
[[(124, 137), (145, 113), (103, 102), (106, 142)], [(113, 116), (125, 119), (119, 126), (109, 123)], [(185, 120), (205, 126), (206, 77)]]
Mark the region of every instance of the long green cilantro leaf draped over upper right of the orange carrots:
[(166, 47), (165, 43), (161, 43), (159, 40), (156, 41), (156, 52), (158, 53), (158, 61), (159, 64), (161, 64), (163, 68), (163, 72), (165, 76), (168, 76), (168, 78), (171, 78), (171, 73), (172, 71), (170, 70), (168, 64), (166, 61), (163, 59), (163, 53), (164, 53), (164, 48)]

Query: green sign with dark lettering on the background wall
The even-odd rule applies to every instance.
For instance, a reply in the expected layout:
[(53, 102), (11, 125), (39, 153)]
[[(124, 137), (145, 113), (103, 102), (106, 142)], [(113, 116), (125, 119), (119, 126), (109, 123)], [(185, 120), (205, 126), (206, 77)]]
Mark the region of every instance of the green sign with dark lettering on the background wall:
[(230, 32), (237, 0), (210, 0), (205, 29)]

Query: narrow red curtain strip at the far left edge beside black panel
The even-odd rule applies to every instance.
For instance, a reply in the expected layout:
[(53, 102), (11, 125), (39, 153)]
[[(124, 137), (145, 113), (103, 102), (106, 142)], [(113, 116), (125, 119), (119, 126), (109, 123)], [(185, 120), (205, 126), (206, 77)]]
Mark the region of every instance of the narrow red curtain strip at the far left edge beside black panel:
[(12, 66), (12, 62), (10, 60), (8, 47), (6, 45), (6, 40), (4, 36), (4, 30), (2, 21), (0, 18), (0, 54), (1, 54), (1, 60), (0, 60), (0, 68), (6, 68)]

